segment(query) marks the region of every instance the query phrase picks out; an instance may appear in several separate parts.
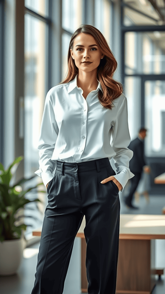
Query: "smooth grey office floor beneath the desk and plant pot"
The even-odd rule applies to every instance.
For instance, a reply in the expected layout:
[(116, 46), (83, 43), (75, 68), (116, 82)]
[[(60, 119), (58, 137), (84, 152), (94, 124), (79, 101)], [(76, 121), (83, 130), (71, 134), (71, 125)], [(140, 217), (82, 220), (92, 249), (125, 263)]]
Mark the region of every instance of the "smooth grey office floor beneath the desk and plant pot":
[[(150, 202), (147, 203), (144, 197), (141, 197), (139, 203), (135, 200), (134, 205), (139, 206), (139, 210), (127, 209), (122, 201), (120, 194), (120, 213), (139, 213), (139, 214), (161, 214), (161, 209), (165, 206), (164, 196), (150, 196)], [(18, 273), (13, 276), (0, 276), (0, 293), (3, 294), (31, 294), (37, 264), (37, 254), (40, 243), (31, 245), (24, 251), (24, 258)], [(27, 250), (30, 249), (31, 250)], [(35, 250), (36, 249), (36, 250)], [(29, 252), (30, 251), (30, 252)], [(156, 240), (156, 267), (165, 268), (165, 240)], [(31, 254), (30, 258), (27, 255)], [(34, 254), (34, 255), (33, 255)], [(32, 256), (33, 255), (33, 256)], [(80, 294), (80, 238), (75, 238), (73, 253), (65, 279), (63, 294)], [(165, 275), (161, 276), (161, 280), (157, 281), (152, 294), (165, 293)], [(51, 293), (50, 293), (51, 294)], [(131, 294), (131, 293), (130, 293)]]

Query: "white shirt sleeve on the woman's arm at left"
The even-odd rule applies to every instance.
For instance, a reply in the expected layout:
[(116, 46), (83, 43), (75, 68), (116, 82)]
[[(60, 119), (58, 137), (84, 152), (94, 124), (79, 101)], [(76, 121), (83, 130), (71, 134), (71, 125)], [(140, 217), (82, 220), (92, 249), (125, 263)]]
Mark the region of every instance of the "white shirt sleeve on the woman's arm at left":
[(45, 187), (53, 178), (52, 173), (56, 164), (56, 161), (53, 162), (51, 160), (58, 136), (55, 131), (55, 128), (57, 130), (57, 123), (55, 121), (55, 114), (52, 105), (52, 96), (48, 92), (45, 99), (39, 135), (39, 170), (35, 171), (35, 173), (42, 178)]

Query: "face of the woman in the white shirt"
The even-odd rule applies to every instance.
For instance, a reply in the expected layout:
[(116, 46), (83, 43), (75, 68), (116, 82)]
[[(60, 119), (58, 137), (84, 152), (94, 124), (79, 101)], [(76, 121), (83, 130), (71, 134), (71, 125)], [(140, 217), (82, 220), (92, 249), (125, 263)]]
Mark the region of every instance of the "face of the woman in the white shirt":
[[(100, 59), (103, 57), (95, 39), (91, 35), (84, 33), (80, 33), (75, 37), (73, 51), (70, 49), (70, 53), (75, 60), (75, 65), (82, 71), (93, 71), (99, 66)], [(91, 63), (84, 64), (83, 61), (90, 61)]]

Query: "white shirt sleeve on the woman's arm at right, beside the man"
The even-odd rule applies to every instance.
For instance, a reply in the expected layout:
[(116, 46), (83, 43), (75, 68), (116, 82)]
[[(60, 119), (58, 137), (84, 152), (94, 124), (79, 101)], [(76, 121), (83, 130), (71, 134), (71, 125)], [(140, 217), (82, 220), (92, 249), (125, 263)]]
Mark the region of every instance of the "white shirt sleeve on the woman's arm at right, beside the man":
[(116, 152), (113, 159), (117, 174), (114, 177), (122, 185), (122, 192), (127, 181), (134, 176), (129, 169), (129, 161), (133, 156), (133, 151), (128, 148), (131, 138), (128, 128), (127, 98), (125, 96), (121, 105), (118, 105), (118, 107), (117, 117), (114, 125), (112, 125), (111, 146)]

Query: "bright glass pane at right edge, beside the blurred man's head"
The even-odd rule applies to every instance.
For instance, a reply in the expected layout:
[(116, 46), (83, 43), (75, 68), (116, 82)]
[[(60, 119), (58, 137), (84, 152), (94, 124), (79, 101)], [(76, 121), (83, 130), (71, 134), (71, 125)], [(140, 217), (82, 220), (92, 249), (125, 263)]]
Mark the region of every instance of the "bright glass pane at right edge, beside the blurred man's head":
[(165, 154), (165, 81), (145, 81), (145, 126), (148, 128), (145, 154)]

